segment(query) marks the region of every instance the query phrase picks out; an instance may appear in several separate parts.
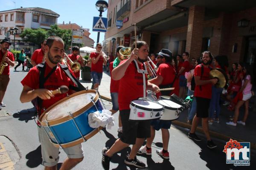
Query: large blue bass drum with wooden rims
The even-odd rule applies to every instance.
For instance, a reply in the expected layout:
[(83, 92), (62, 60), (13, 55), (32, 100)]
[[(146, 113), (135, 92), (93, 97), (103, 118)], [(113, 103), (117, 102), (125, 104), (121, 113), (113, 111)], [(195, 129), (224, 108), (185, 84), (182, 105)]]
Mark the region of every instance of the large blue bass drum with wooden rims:
[(102, 111), (96, 91), (79, 91), (49, 107), (39, 122), (55, 147), (71, 147), (99, 131), (88, 124), (88, 114), (95, 111)]

